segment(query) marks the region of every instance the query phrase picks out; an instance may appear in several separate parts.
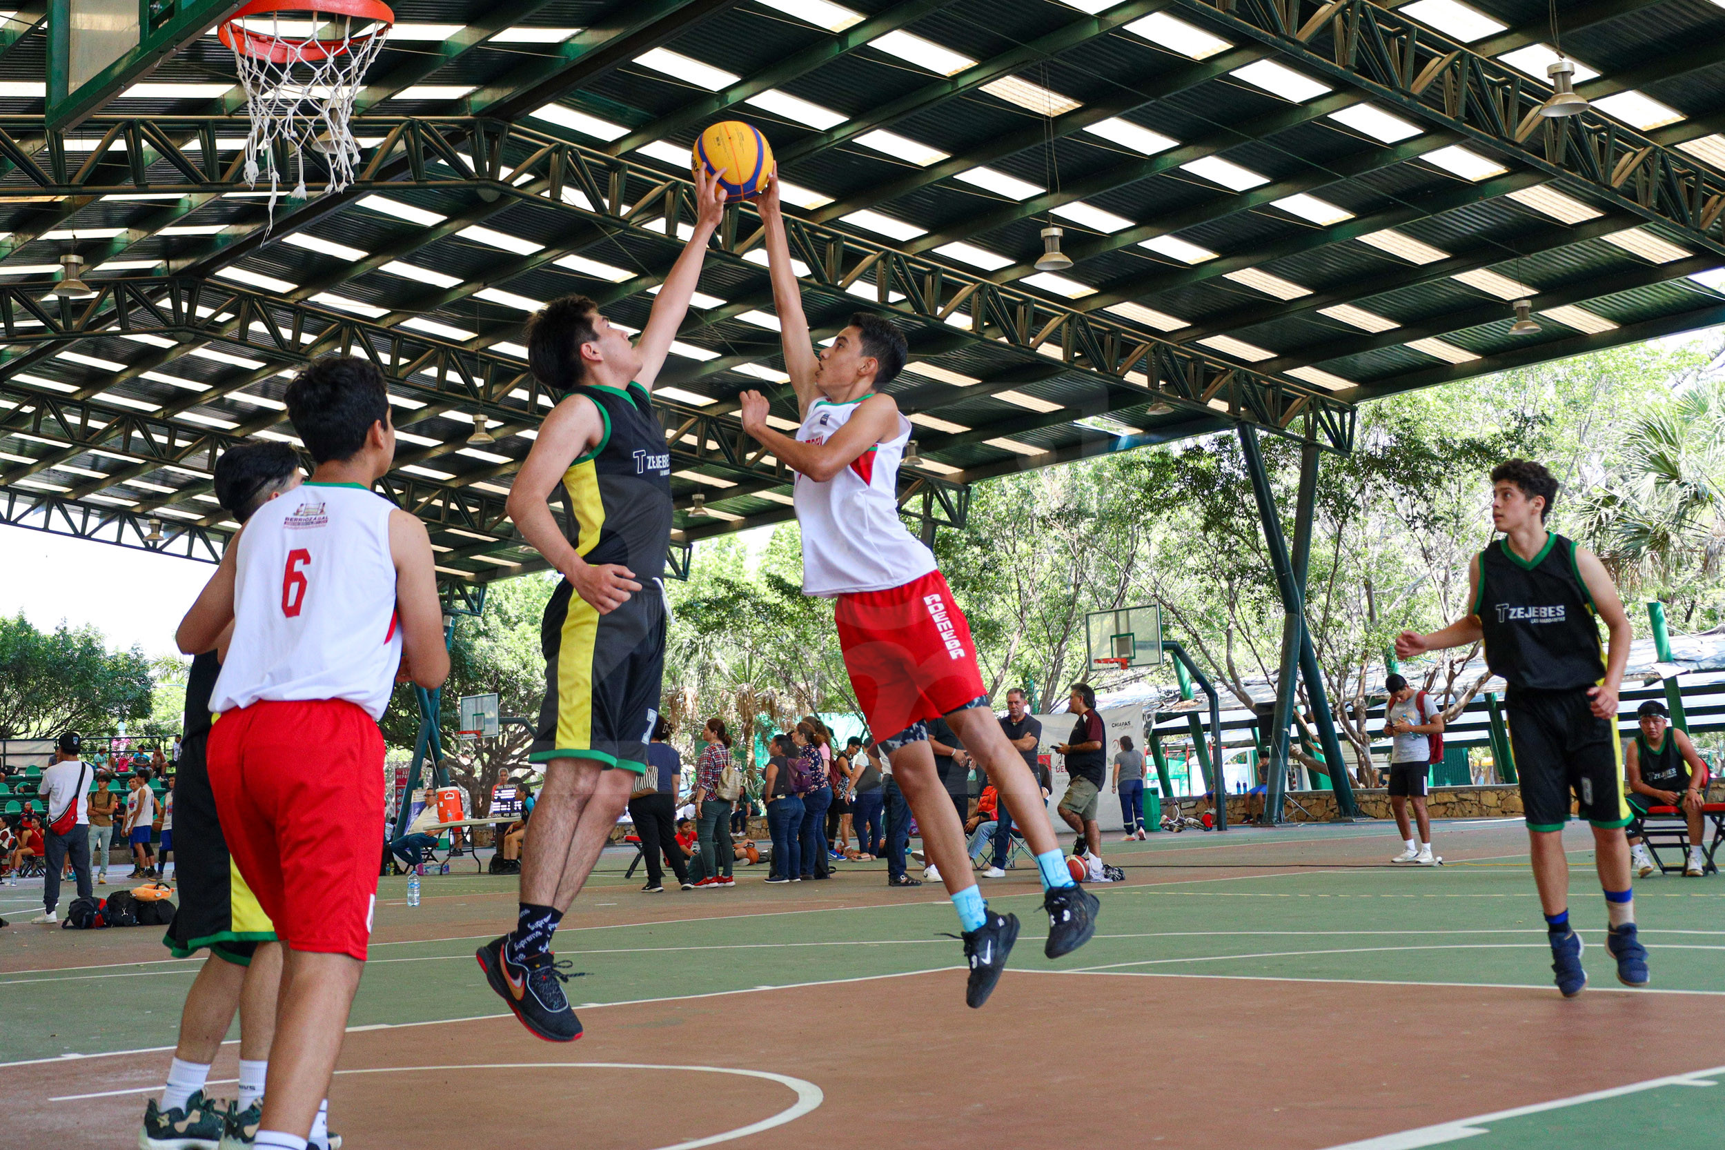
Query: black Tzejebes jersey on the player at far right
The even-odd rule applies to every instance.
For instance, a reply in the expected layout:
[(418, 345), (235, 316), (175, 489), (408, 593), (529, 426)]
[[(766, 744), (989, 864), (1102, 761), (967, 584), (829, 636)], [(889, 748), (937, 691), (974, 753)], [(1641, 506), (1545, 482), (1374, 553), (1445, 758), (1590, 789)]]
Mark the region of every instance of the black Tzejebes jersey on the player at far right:
[(1502, 538), (1480, 552), (1473, 600), (1485, 636), (1485, 666), (1511, 688), (1563, 691), (1604, 679), (1594, 598), (1575, 564), (1575, 541), (1546, 536), (1534, 559)]

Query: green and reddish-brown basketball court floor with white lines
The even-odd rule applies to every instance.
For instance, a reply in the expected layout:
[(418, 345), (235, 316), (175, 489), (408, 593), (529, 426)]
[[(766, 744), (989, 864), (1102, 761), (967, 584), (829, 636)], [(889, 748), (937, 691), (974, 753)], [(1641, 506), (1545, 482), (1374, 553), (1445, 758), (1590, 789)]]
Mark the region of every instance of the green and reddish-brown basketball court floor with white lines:
[[(1392, 838), (1363, 824), (1111, 847), (1128, 881), (1094, 888), (1097, 938), (1059, 964), (1042, 960), (1019, 871), (988, 884), (1026, 933), (980, 1012), (938, 888), (892, 891), (861, 864), (821, 886), (743, 871), (731, 891), (649, 897), (612, 852), (557, 934), (585, 972), (569, 997), (586, 1036), (568, 1050), (499, 1014), (473, 964), (512, 914), (512, 879), (428, 879), (416, 910), (385, 879), (333, 1126), (355, 1147), (507, 1122), (523, 1147), (618, 1150), (1716, 1143), (1716, 883), (1637, 884), (1654, 981), (1628, 991), (1578, 871), (1592, 983), (1566, 1002), (1518, 824), (1439, 824), (1449, 862), (1432, 871), (1383, 866)], [(160, 1088), (198, 964), (160, 959), (143, 929), (7, 936), (0, 1110), (45, 1145), (117, 1145)], [(216, 1079), (235, 1076), (233, 1050)]]

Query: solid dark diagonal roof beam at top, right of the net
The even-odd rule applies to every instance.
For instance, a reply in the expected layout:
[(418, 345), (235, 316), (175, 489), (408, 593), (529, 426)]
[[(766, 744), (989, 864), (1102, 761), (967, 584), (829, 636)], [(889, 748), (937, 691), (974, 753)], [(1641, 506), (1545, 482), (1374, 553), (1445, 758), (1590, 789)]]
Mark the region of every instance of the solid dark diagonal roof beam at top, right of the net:
[(518, 119), (619, 64), (700, 26), (742, 0), (623, 0), (605, 21), (557, 45), (542, 62), (511, 69), (462, 103), (471, 116)]

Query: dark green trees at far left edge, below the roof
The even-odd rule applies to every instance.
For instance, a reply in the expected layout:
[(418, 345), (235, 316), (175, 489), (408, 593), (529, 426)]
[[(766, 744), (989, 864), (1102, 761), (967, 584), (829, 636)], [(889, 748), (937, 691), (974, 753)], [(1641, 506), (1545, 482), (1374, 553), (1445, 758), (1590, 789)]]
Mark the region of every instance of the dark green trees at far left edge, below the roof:
[(110, 652), (95, 628), (38, 631), (0, 617), (0, 738), (109, 734), (150, 714), (150, 660)]

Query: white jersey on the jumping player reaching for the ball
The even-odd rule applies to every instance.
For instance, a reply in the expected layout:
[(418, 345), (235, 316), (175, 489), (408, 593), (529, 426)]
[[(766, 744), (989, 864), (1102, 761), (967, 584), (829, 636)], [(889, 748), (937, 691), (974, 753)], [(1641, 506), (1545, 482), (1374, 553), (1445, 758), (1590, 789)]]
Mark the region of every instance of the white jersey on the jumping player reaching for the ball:
[[(864, 398), (814, 400), (797, 440), (825, 443)], [(899, 519), (899, 460), (909, 438), (911, 421), (900, 414), (897, 434), (857, 455), (826, 483), (797, 476), (804, 595), (885, 591), (935, 569), (935, 553)]]

